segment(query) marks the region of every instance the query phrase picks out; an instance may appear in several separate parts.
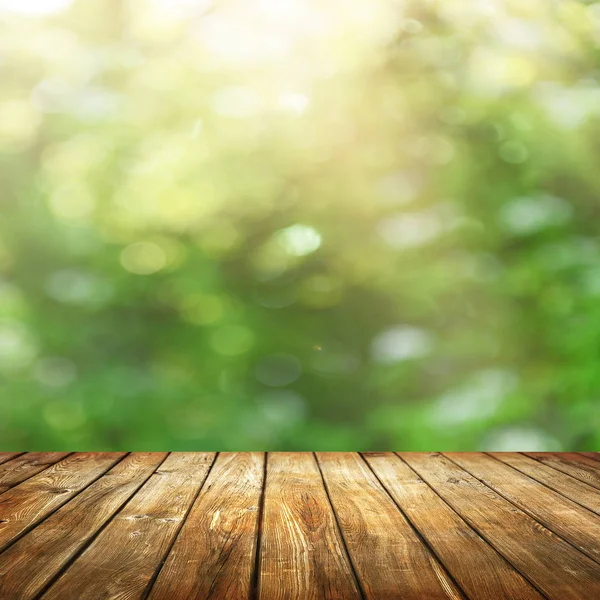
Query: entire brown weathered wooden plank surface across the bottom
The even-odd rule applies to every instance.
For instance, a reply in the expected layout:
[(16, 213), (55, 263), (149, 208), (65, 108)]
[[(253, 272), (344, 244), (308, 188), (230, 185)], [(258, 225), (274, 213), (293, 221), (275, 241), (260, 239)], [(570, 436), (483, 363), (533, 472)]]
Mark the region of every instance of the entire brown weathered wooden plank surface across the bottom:
[(600, 599), (598, 453), (0, 453), (0, 599)]

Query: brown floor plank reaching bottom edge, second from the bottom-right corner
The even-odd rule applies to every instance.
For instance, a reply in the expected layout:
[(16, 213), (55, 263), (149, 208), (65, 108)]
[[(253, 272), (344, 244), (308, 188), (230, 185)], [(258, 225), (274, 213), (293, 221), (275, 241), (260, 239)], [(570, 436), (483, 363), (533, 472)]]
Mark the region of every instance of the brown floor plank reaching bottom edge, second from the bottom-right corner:
[(379, 481), (471, 600), (543, 600), (544, 597), (406, 463), (391, 452), (369, 452), (364, 456)]

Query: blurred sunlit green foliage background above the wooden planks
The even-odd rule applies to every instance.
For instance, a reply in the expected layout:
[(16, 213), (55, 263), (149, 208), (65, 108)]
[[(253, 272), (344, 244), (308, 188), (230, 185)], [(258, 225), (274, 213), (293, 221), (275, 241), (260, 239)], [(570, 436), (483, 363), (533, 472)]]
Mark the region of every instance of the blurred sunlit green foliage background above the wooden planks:
[(0, 447), (598, 450), (600, 3), (0, 0)]

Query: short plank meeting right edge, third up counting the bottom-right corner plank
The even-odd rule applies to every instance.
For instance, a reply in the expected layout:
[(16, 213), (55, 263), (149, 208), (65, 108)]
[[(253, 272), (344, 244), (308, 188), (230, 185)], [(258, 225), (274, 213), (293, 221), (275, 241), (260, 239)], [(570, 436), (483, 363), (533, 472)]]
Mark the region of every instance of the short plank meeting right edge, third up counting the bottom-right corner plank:
[(490, 455), (600, 515), (600, 494), (586, 483), (519, 452), (490, 452)]

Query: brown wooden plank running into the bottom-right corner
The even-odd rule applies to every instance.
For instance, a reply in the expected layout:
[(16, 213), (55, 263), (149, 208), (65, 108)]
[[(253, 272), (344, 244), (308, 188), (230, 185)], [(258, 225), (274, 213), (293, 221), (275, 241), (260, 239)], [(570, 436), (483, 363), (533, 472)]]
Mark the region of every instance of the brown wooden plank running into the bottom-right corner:
[(549, 600), (600, 598), (598, 564), (440, 454), (399, 455)]

